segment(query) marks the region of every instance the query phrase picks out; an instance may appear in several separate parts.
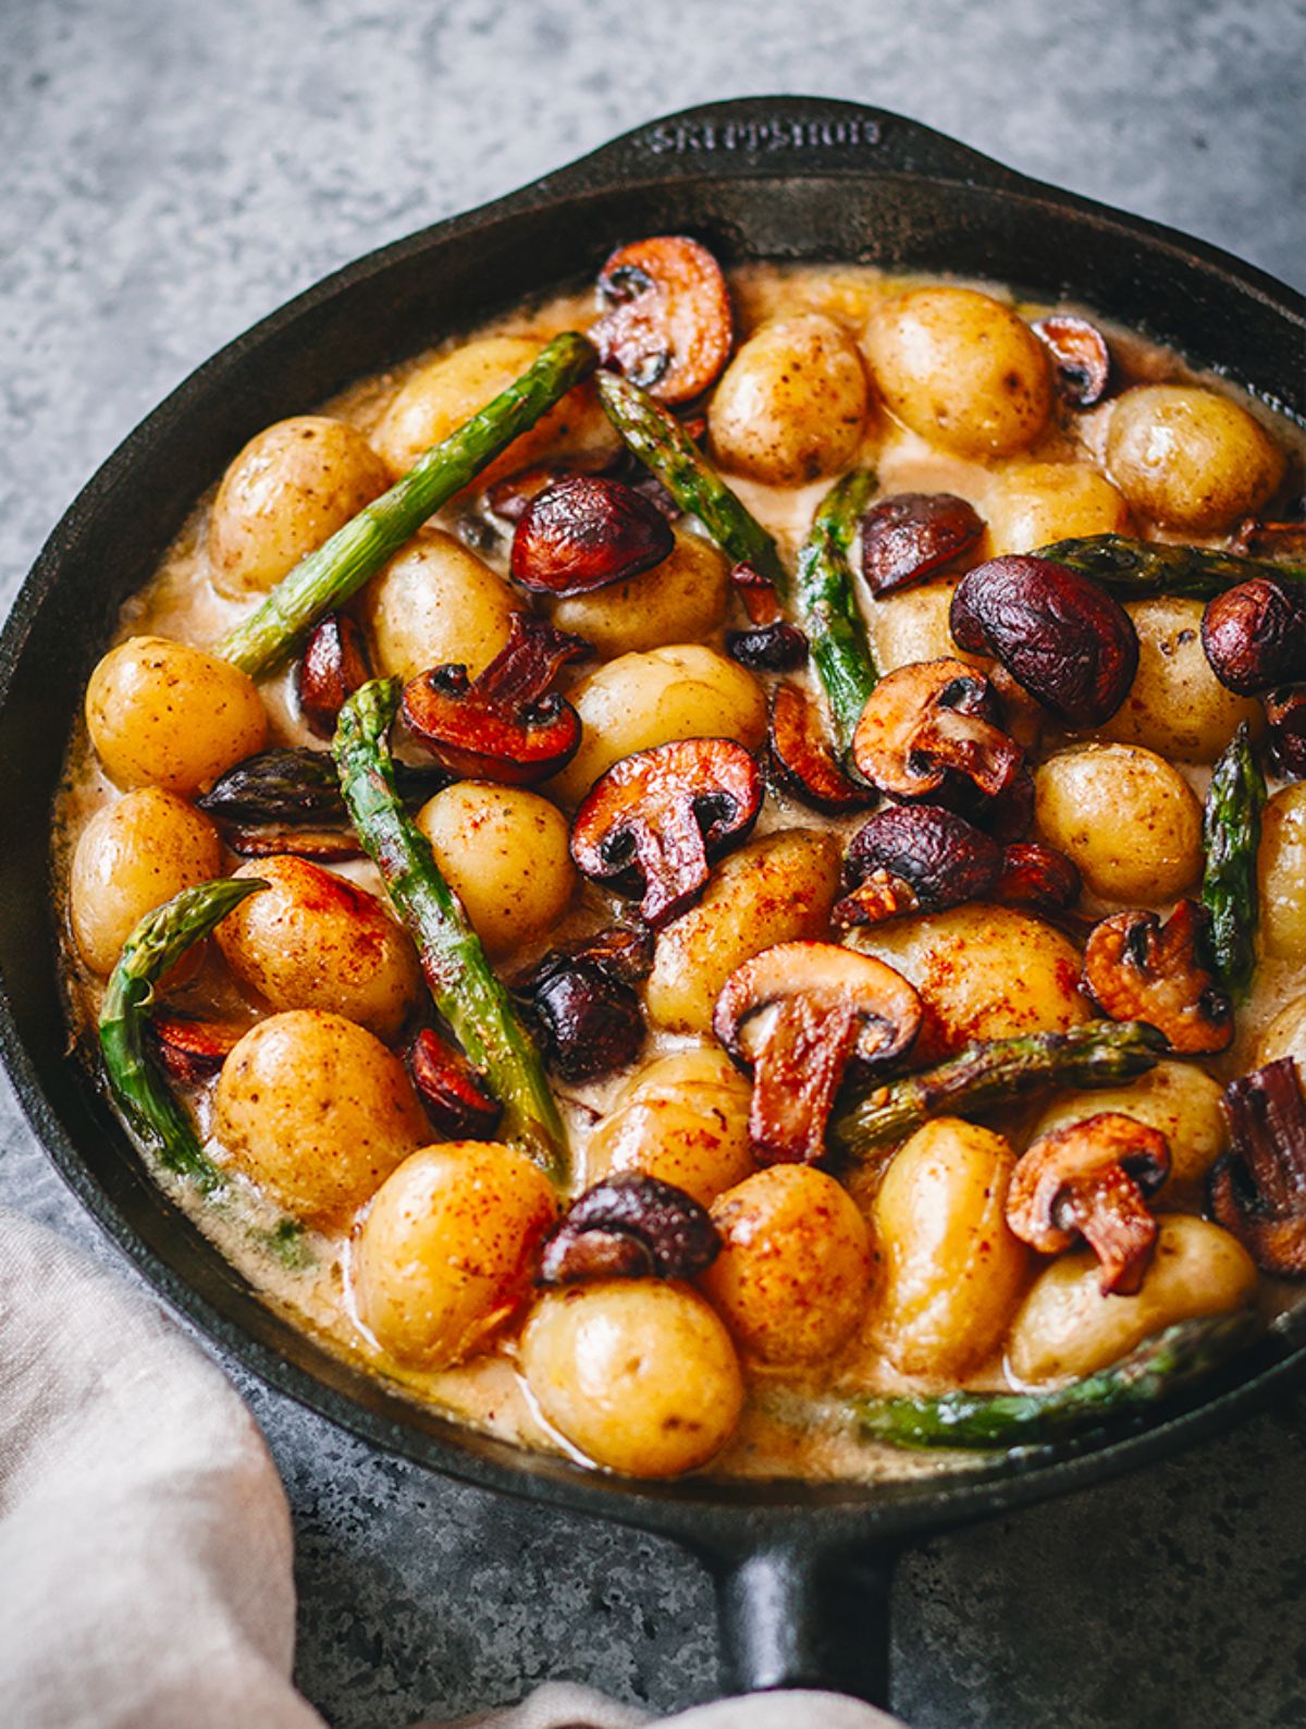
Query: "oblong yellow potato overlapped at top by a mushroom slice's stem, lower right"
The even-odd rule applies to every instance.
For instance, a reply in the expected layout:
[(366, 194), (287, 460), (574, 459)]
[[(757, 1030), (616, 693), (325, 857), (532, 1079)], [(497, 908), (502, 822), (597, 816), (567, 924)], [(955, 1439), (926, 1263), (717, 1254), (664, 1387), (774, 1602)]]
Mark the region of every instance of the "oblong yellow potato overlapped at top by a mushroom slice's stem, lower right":
[(1256, 1298), (1256, 1266), (1228, 1231), (1187, 1212), (1157, 1222), (1156, 1255), (1137, 1297), (1102, 1295), (1090, 1248), (1059, 1255), (1038, 1274), (1007, 1340), (1019, 1381), (1094, 1375), (1176, 1321), (1227, 1314)]

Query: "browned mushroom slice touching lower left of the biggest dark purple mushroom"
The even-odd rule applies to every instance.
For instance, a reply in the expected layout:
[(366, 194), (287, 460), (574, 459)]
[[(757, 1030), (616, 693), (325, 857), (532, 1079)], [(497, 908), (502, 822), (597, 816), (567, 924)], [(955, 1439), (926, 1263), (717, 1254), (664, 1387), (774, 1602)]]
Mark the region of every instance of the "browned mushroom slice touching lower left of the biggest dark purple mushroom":
[(966, 782), (992, 799), (1021, 761), (1021, 747), (997, 724), (988, 679), (964, 660), (917, 660), (881, 678), (853, 733), (859, 773), (897, 799), (929, 799)]

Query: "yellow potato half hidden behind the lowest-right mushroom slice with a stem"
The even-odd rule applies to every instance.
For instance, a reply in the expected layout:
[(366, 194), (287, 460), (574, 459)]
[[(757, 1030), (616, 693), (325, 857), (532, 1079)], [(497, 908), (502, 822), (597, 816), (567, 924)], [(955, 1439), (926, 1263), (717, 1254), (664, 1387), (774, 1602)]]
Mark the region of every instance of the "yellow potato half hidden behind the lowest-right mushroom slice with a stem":
[(1038, 1119), (1030, 1139), (1104, 1110), (1135, 1117), (1170, 1141), (1170, 1176), (1152, 1205), (1197, 1212), (1206, 1193), (1206, 1172), (1228, 1146), (1220, 1098), (1220, 1082), (1202, 1069), (1164, 1062), (1126, 1086), (1062, 1093)]

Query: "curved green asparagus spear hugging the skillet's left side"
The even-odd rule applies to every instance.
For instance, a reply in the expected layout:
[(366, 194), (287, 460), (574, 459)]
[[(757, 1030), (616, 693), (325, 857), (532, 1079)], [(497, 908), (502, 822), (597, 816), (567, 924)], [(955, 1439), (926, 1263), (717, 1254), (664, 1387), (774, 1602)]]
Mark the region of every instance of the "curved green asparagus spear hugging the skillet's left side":
[(183, 889), (147, 913), (123, 944), (100, 1010), (100, 1053), (117, 1108), (159, 1164), (192, 1177), (206, 1195), (221, 1188), (221, 1171), (206, 1155), (190, 1117), (154, 1067), (145, 1048), (145, 1025), (155, 982), (247, 894), (266, 887), (252, 877), (219, 877), (197, 889)]

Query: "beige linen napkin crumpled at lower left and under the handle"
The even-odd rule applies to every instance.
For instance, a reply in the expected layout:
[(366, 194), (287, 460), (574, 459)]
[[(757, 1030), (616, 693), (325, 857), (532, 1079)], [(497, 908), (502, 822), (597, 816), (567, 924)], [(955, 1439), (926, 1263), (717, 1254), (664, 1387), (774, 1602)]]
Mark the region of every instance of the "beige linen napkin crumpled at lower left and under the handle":
[[(0, 1209), (5, 1729), (323, 1729), (288, 1679), (290, 1560), (282, 1483), (221, 1371), (140, 1292)], [(460, 1729), (650, 1720), (551, 1684)], [(893, 1722), (836, 1694), (776, 1693), (667, 1729)]]

